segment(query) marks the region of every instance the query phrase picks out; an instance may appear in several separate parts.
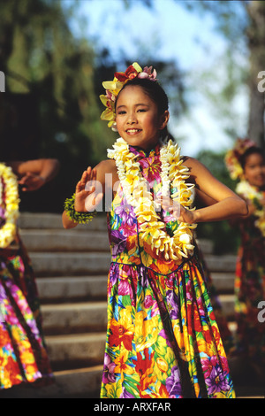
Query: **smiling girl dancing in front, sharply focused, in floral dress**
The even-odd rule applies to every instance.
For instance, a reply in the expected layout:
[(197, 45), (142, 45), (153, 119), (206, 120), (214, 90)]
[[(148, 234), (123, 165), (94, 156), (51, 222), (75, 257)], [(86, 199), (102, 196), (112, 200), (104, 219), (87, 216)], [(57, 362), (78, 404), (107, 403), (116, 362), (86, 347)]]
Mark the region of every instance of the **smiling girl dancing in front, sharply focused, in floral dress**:
[[(135, 63), (103, 86), (102, 119), (121, 137), (109, 150), (110, 160), (83, 173), (63, 213), (64, 227), (75, 227), (86, 211), (91, 219), (102, 195), (110, 199), (113, 189), (101, 397), (234, 397), (201, 264), (193, 255), (193, 228), (246, 215), (246, 203), (197, 160), (180, 158), (178, 144), (167, 138), (168, 99), (151, 67), (142, 71)], [(95, 187), (86, 189), (87, 181)], [(216, 204), (190, 210), (193, 189)]]

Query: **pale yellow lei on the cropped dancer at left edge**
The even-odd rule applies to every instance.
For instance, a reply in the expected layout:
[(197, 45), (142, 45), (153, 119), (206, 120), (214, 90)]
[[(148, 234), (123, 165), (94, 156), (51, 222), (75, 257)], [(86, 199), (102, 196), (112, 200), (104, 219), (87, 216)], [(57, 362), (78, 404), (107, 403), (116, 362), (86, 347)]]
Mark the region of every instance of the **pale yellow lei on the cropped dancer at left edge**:
[(5, 204), (5, 223), (0, 229), (0, 249), (5, 249), (17, 234), (19, 190), (15, 174), (4, 163), (0, 163), (0, 183), (0, 204)]

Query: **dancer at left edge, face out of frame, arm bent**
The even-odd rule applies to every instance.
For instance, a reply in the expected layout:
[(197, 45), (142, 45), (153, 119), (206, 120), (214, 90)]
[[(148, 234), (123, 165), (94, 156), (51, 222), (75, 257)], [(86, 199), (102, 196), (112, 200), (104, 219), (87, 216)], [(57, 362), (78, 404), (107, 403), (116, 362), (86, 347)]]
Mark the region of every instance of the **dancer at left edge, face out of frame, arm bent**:
[(0, 163), (0, 397), (12, 397), (10, 388), (21, 383), (52, 379), (34, 273), (17, 219), (18, 184), (23, 191), (39, 189), (57, 169), (55, 159)]

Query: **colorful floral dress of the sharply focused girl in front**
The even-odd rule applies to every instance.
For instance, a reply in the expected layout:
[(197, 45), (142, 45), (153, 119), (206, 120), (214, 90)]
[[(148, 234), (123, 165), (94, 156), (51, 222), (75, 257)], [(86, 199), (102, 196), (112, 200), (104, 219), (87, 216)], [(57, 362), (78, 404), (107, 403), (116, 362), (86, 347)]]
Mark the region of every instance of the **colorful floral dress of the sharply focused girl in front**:
[[(159, 146), (137, 154), (161, 187)], [(168, 233), (178, 227), (162, 212)], [(223, 343), (196, 255), (179, 266), (139, 242), (121, 187), (108, 212), (112, 261), (101, 397), (235, 397)]]

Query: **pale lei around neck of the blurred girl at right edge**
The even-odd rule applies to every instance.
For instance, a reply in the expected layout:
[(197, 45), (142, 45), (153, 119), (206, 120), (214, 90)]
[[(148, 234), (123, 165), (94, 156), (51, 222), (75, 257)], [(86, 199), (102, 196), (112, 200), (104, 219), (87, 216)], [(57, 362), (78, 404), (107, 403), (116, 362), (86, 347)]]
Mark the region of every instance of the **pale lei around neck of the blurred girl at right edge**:
[(254, 215), (258, 217), (258, 219), (255, 220), (254, 224), (257, 228), (260, 228), (261, 235), (265, 237), (265, 208), (261, 207), (261, 199), (264, 196), (262, 196), (262, 193), (251, 186), (247, 181), (240, 181), (236, 186), (236, 192), (256, 206)]

